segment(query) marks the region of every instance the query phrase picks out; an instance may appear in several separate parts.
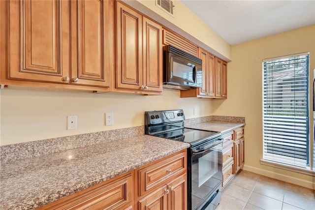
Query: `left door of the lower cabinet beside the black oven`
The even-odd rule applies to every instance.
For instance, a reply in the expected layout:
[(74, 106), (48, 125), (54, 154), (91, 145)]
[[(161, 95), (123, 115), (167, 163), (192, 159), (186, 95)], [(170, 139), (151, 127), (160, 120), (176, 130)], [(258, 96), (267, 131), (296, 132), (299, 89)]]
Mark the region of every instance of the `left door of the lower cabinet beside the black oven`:
[(167, 194), (169, 190), (164, 185), (138, 202), (138, 210), (167, 210)]

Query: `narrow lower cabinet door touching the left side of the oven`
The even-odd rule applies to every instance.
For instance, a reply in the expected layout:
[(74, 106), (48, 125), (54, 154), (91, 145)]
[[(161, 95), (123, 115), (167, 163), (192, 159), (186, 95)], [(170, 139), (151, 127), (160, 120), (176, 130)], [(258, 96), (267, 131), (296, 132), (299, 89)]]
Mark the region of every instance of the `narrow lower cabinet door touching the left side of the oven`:
[(168, 210), (187, 210), (187, 175), (182, 175), (168, 184)]

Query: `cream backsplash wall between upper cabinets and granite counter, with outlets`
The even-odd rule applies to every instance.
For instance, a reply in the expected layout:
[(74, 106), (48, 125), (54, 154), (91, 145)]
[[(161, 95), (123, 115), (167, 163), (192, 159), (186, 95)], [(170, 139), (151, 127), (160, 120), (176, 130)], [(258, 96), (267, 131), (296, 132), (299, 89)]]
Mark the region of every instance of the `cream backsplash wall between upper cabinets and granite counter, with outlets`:
[[(4, 89), (0, 100), (0, 145), (142, 126), (144, 111), (151, 110), (184, 109), (187, 118), (211, 115), (210, 100), (181, 99), (180, 91), (165, 89), (162, 96)], [(105, 112), (114, 113), (114, 125), (104, 125)], [(67, 115), (78, 116), (77, 130), (66, 130)]]

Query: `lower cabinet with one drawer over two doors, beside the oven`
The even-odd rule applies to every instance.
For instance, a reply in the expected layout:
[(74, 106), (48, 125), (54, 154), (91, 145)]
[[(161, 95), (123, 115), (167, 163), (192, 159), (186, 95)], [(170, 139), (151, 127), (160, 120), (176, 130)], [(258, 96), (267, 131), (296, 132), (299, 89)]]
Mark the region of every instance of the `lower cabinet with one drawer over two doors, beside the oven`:
[(136, 170), (138, 210), (187, 210), (187, 150)]

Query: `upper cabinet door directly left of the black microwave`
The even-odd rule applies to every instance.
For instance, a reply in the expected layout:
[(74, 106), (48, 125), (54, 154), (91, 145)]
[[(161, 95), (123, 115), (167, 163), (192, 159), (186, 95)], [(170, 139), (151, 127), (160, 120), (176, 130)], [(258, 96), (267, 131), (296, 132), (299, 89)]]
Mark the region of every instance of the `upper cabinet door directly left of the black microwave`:
[(162, 27), (143, 17), (144, 90), (162, 92)]

